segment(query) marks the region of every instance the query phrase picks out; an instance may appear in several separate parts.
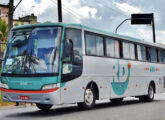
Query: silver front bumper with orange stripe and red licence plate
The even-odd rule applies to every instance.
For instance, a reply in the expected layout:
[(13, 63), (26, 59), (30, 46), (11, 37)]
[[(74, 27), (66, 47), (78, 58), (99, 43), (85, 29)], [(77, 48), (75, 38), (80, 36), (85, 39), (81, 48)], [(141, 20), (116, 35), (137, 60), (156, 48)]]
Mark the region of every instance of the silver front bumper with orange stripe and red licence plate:
[(22, 91), (0, 88), (4, 102), (60, 104), (60, 88), (41, 91)]

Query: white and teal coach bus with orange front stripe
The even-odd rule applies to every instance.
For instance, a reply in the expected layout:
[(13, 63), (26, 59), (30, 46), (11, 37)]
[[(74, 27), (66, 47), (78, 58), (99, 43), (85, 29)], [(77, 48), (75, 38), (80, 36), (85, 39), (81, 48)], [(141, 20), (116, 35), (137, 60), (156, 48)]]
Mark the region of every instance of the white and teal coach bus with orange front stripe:
[(152, 101), (165, 90), (165, 46), (79, 24), (44, 23), (11, 30), (2, 60), (2, 99), (41, 110), (128, 96)]

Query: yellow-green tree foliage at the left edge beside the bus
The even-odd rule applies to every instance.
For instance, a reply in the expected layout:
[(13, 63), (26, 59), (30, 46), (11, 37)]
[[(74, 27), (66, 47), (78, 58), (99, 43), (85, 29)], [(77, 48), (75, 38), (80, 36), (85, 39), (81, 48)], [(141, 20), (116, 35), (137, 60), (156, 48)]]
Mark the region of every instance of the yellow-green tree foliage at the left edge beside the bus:
[[(0, 18), (0, 42), (6, 42), (8, 36), (8, 25), (6, 24), (6, 21), (2, 18)], [(2, 46), (2, 51), (5, 48), (5, 45)]]

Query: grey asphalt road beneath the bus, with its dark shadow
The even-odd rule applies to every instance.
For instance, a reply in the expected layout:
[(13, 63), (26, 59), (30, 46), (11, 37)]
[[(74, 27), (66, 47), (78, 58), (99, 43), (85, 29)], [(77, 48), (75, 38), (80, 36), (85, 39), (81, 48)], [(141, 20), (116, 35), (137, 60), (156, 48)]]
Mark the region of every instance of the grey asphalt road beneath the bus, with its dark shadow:
[(148, 103), (135, 98), (127, 98), (121, 104), (99, 101), (88, 111), (81, 111), (76, 105), (54, 106), (48, 112), (36, 107), (0, 108), (0, 120), (165, 120), (165, 94), (156, 95)]

